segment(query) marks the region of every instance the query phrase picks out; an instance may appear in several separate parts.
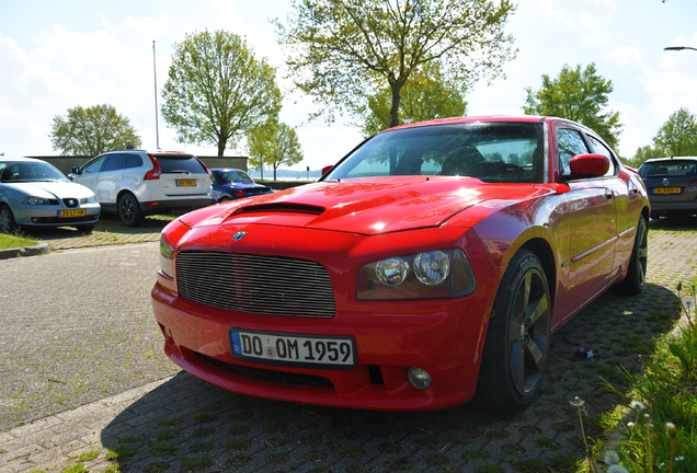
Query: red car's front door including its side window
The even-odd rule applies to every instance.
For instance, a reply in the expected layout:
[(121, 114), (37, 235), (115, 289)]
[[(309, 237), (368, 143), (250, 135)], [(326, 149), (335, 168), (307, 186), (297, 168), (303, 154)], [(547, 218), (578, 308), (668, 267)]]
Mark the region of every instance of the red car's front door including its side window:
[[(592, 153), (593, 150), (579, 129), (563, 124), (556, 127), (555, 134), (564, 180), (564, 175), (571, 174), (571, 158)], [(603, 289), (613, 272), (617, 240), (614, 180), (603, 176), (567, 181), (570, 251), (569, 259), (563, 262), (567, 285), (560, 300), (570, 307), (579, 307)]]

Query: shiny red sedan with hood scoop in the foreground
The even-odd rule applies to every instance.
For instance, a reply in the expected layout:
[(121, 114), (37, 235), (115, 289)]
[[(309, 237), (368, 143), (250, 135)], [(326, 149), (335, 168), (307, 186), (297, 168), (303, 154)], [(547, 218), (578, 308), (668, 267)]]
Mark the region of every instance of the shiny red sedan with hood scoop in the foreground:
[(316, 184), (168, 224), (152, 305), (167, 355), (237, 393), (513, 413), (551, 333), (608, 288), (641, 291), (649, 215), (639, 175), (576, 123), (407, 125)]

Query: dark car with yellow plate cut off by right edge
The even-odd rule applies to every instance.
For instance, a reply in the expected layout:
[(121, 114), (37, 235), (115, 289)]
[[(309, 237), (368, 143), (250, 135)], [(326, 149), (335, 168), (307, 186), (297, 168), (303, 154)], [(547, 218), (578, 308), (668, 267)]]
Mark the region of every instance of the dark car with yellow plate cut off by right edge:
[(697, 215), (697, 158), (660, 158), (639, 168), (651, 218)]

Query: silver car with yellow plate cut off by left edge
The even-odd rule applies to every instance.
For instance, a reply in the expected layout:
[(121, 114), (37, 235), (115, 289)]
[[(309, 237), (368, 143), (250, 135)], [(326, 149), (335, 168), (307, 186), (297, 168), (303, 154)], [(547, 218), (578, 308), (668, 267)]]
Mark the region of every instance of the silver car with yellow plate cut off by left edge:
[(46, 161), (0, 157), (0, 232), (18, 226), (71, 226), (87, 232), (99, 219), (94, 193)]

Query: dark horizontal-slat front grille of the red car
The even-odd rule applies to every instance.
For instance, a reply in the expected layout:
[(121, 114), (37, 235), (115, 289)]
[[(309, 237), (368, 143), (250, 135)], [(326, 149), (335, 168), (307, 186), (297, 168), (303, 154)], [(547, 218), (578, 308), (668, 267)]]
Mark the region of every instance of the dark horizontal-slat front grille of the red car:
[(245, 253), (185, 251), (176, 256), (182, 297), (267, 315), (332, 318), (334, 291), (319, 263)]

